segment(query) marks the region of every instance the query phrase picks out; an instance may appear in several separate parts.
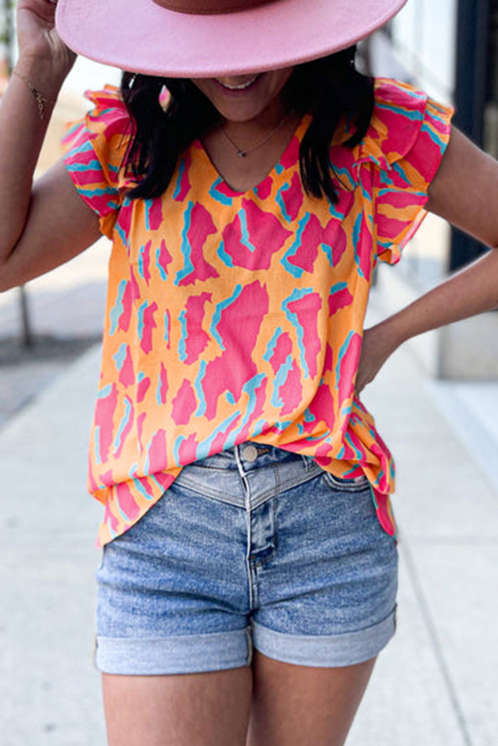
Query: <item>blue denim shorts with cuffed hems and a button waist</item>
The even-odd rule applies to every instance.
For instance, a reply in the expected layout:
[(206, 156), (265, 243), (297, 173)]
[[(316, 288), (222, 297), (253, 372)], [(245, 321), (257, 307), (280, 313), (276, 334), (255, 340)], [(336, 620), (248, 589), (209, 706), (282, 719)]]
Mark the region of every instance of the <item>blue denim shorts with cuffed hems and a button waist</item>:
[(243, 443), (184, 467), (106, 545), (96, 665), (109, 674), (363, 662), (395, 630), (396, 539), (366, 478)]

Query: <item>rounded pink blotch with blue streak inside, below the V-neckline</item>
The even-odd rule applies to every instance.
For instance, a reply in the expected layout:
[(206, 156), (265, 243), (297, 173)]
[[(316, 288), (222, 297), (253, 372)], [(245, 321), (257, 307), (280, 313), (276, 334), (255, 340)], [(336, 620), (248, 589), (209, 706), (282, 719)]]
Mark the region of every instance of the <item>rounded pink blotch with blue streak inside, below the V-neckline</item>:
[(272, 213), (249, 199), (243, 199), (242, 209), (223, 231), (225, 253), (235, 266), (252, 270), (269, 269), (273, 254), (290, 236)]

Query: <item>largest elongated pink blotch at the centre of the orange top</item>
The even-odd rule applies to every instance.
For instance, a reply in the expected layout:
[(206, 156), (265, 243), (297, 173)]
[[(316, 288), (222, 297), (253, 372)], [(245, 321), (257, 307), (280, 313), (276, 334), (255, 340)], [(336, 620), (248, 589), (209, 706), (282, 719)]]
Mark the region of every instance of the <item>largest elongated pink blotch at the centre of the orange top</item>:
[(251, 354), (268, 313), (268, 305), (267, 289), (256, 281), (246, 285), (240, 295), (222, 310), (217, 331), (225, 351), (208, 363), (202, 379), (208, 419), (216, 416), (220, 395), (229, 391), (237, 401), (244, 384), (257, 374), (258, 368)]

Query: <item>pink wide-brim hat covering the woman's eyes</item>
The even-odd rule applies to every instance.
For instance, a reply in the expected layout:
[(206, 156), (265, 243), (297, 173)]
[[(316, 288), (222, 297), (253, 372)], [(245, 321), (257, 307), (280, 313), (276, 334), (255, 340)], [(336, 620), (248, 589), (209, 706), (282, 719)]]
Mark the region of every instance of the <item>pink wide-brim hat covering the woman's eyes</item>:
[(212, 78), (279, 69), (364, 39), (406, 0), (58, 0), (78, 54), (130, 72)]

